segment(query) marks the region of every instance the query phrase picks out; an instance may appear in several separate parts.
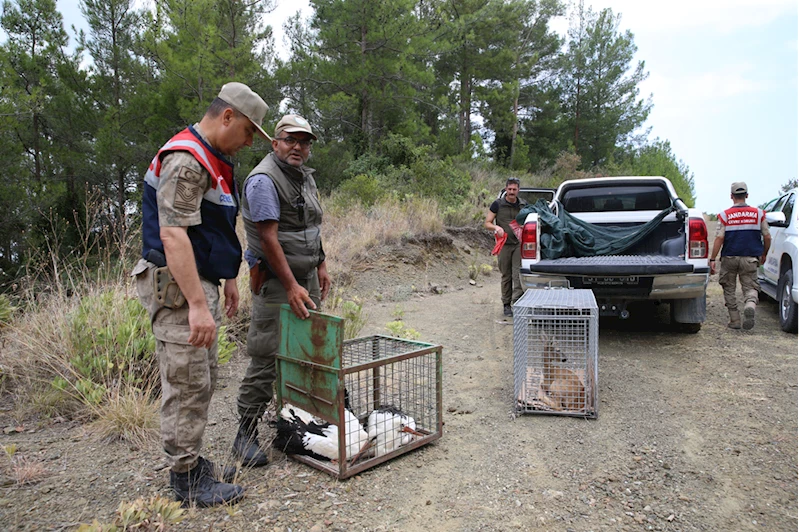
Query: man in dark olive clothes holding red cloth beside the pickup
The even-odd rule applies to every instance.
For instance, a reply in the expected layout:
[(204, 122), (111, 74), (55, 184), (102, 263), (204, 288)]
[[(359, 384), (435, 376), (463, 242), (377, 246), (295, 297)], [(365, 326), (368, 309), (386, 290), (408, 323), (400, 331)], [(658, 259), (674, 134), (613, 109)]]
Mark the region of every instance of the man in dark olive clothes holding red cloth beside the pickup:
[(488, 209), (484, 227), (494, 231), (495, 235), (507, 235), (507, 240), (499, 252), (499, 271), (502, 274), (502, 311), (505, 316), (513, 316), (513, 305), (522, 297), (522, 280), (519, 269), (522, 265), (519, 239), (513, 233), (510, 222), (527, 203), (519, 197), (519, 178), (508, 178), (505, 183), (505, 195), (494, 201)]

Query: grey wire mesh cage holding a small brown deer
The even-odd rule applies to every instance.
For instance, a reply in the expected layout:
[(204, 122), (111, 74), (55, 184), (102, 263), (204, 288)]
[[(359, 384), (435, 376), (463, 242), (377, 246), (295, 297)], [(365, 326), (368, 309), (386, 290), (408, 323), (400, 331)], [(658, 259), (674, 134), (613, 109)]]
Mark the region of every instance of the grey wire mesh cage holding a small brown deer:
[(513, 306), (515, 412), (596, 418), (598, 352), (591, 290), (527, 290)]

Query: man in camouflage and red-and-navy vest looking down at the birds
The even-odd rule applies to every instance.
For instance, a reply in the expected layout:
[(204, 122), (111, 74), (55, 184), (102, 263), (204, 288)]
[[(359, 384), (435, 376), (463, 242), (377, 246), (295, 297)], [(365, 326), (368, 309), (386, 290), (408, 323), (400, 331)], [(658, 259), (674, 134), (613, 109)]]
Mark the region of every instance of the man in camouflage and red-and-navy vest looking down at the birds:
[(227, 159), (252, 145), (267, 105), (242, 83), (227, 83), (199, 123), (169, 140), (150, 163), (142, 197), (142, 259), (133, 270), (150, 314), (161, 374), (161, 441), (178, 500), (235, 503), (235, 468), (200, 456), (217, 377), (219, 284), (225, 313), (238, 308), (238, 191)]

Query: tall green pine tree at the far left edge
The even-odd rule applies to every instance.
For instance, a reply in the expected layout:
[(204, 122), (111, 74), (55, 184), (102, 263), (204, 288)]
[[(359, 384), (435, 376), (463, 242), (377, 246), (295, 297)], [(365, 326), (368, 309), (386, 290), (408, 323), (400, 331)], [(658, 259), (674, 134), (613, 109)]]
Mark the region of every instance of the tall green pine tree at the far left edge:
[[(42, 249), (45, 235), (64, 231), (59, 240), (67, 252), (77, 235), (69, 223), (83, 208), (86, 143), (78, 58), (66, 52), (67, 34), (54, 0), (4, 1), (0, 26), (7, 40), (0, 46), (0, 85), (5, 124), (2, 142), (14, 150), (3, 155), (4, 169), (16, 169), (4, 180), (0, 197), (16, 197), (10, 209), (22, 220), (3, 224), (0, 248), (5, 248), (6, 275), (25, 260), (29, 250)], [(10, 115), (11, 120), (8, 120)], [(20, 155), (17, 155), (20, 154)], [(8, 170), (7, 170), (8, 171)]]

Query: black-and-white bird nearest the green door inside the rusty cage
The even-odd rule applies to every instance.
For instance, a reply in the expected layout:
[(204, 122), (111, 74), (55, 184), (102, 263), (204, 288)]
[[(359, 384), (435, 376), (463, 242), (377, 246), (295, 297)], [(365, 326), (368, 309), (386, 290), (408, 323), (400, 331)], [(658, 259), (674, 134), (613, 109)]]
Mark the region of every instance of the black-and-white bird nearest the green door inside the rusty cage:
[[(280, 410), (277, 435), (272, 445), (286, 454), (310, 456), (317, 460), (338, 460), (338, 427), (320, 420), (302, 408), (287, 404)], [(349, 408), (344, 409), (344, 438), (347, 460), (360, 453), (369, 435)]]

